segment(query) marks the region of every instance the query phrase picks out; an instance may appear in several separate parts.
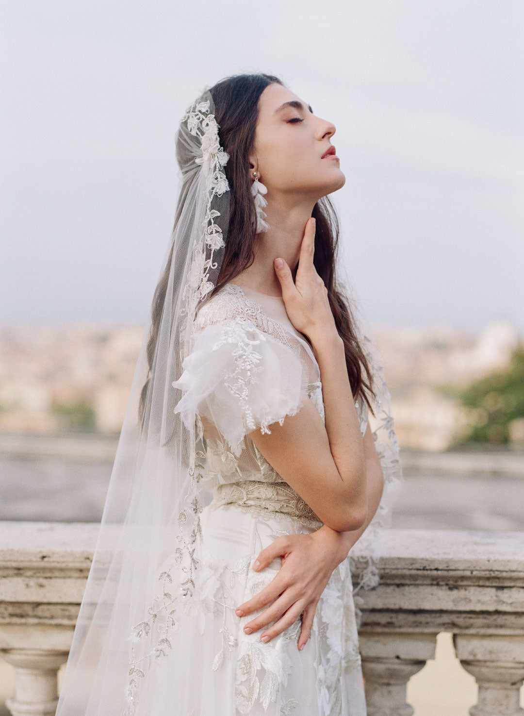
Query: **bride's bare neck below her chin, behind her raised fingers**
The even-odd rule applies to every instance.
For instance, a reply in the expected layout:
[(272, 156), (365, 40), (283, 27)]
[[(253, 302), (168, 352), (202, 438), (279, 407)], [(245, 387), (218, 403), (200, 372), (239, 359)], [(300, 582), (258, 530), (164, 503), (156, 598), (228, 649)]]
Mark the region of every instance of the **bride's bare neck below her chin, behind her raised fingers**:
[(306, 221), (311, 217), (316, 201), (305, 202), (302, 197), (300, 202), (290, 203), (288, 197), (285, 201), (271, 197), (263, 209), (266, 213), (265, 221), (269, 225), (268, 231), (257, 235), (255, 259), (251, 266), (239, 274), (241, 281), (246, 279), (246, 285), (261, 293), (281, 295), (273, 261), (283, 258), (295, 279)]

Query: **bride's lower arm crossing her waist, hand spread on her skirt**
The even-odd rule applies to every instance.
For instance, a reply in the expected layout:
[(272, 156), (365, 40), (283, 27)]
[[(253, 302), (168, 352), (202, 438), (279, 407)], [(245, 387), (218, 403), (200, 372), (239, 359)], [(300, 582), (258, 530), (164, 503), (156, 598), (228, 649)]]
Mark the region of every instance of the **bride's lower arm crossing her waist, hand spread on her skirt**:
[(384, 476), (369, 425), (364, 432), (363, 443), (368, 494), (366, 521), (362, 527), (351, 532), (337, 532), (324, 525), (309, 535), (279, 537), (263, 549), (257, 556), (259, 566), (256, 571), (265, 569), (277, 557), (282, 558), (281, 569), (265, 589), (240, 604), (236, 613), (243, 616), (271, 602), (273, 604), (256, 619), (249, 621), (244, 629), (257, 632), (275, 621), (261, 634), (261, 638), (267, 636), (273, 639), (302, 614), (302, 628), (297, 646), (302, 649), (306, 644), (313, 627), (316, 605), (333, 570), (346, 558), (351, 547), (369, 525), (382, 496)]

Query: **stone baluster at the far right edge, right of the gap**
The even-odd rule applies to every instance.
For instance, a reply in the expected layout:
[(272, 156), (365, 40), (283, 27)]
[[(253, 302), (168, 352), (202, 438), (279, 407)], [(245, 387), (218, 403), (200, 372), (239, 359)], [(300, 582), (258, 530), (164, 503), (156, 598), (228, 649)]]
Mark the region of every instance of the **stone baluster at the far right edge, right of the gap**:
[(519, 706), (524, 681), (524, 634), (455, 634), (455, 652), (478, 684), (471, 716), (524, 716)]

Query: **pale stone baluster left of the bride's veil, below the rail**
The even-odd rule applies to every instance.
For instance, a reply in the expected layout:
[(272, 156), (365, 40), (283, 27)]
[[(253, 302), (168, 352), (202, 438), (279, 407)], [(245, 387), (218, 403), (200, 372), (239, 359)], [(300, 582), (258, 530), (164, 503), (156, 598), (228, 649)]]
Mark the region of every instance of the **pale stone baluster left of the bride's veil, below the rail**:
[(6, 700), (13, 716), (54, 716), (57, 674), (67, 652), (42, 649), (5, 649), (2, 657), (14, 667), (14, 696)]

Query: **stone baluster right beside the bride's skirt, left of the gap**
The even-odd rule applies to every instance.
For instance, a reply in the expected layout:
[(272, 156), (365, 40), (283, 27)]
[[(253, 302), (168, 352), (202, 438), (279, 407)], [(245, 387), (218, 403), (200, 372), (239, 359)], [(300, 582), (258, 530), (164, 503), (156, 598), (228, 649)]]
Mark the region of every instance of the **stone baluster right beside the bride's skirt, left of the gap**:
[(359, 634), (368, 716), (412, 716), (409, 679), (435, 658), (437, 634)]

